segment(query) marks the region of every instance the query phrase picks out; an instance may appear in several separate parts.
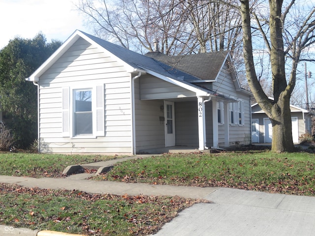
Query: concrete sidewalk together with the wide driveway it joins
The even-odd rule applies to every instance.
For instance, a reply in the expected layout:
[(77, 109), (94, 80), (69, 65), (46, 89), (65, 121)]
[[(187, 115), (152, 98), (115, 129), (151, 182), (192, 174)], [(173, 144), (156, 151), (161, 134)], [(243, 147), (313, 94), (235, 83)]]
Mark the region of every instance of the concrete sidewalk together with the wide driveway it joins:
[[(229, 188), (84, 179), (89, 176), (91, 175), (78, 174), (66, 178), (0, 176), (0, 182), (46, 189), (77, 189), (90, 193), (178, 195), (185, 198), (204, 198), (213, 202), (195, 204), (183, 210), (173, 221), (165, 224), (155, 236), (311, 236), (315, 234), (315, 197)], [(16, 235), (32, 234), (34, 232), (30, 231), (30, 234)], [(1, 231), (0, 235), (3, 235)]]

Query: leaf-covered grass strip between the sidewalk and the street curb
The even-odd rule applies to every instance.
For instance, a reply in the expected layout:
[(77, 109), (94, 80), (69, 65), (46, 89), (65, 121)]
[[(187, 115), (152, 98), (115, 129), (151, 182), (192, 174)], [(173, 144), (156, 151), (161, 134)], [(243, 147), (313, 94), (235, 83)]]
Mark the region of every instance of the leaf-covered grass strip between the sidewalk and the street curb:
[[(53, 206), (47, 207), (51, 202)], [(201, 202), (209, 203), (178, 196), (118, 196), (0, 184), (0, 224), (49, 230), (59, 226), (67, 233), (94, 236), (144, 236), (156, 233), (179, 211)], [(79, 232), (71, 232), (73, 228)]]

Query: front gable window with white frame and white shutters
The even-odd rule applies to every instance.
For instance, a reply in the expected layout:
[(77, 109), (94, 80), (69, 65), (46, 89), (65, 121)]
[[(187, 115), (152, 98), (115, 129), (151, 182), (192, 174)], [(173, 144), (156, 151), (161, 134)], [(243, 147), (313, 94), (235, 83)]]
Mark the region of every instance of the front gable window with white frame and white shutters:
[(104, 86), (66, 87), (63, 91), (63, 137), (104, 136)]

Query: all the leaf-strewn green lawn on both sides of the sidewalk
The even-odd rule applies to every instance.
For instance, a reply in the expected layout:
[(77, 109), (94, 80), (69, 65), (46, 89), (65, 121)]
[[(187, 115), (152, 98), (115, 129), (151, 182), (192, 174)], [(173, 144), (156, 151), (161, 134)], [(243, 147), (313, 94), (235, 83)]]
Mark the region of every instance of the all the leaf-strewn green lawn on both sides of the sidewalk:
[[(1, 153), (0, 175), (62, 177), (68, 165), (118, 156)], [(270, 151), (165, 154), (118, 163), (95, 180), (222, 186), (315, 195), (315, 154)], [(200, 201), (200, 200), (199, 200)], [(148, 235), (199, 202), (179, 197), (92, 195), (0, 184), (0, 224), (87, 235)]]

